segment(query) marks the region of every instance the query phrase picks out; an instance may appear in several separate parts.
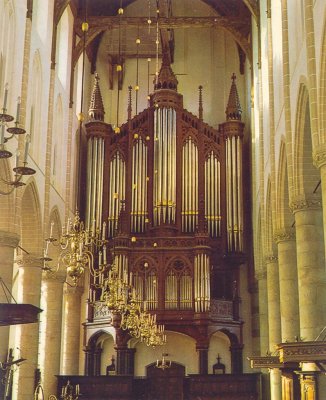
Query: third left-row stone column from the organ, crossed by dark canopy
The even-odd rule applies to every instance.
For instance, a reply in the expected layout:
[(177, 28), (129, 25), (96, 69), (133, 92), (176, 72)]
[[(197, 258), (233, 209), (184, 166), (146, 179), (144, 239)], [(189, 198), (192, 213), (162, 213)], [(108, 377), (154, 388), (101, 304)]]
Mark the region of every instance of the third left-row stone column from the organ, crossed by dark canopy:
[[(42, 270), (36, 257), (20, 256), (17, 278), (17, 303), (40, 306)], [(41, 315), (40, 315), (41, 318)], [(29, 400), (34, 396), (35, 371), (38, 367), (39, 324), (16, 325), (15, 345), (26, 358), (14, 374), (13, 393), (17, 400)]]

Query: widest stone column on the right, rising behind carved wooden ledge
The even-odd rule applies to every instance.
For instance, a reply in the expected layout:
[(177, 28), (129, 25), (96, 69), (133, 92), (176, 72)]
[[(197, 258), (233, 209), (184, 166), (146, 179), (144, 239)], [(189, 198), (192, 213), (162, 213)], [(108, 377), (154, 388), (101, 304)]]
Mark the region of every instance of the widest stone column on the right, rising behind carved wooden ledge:
[(321, 201), (297, 198), (295, 216), (300, 336), (315, 340), (326, 325), (326, 274)]

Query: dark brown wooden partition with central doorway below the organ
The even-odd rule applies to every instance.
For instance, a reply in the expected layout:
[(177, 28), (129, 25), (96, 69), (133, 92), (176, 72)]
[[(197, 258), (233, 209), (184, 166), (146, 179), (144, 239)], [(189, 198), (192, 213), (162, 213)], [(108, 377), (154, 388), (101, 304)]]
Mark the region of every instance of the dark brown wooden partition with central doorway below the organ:
[(258, 400), (260, 374), (184, 376), (184, 367), (173, 363), (164, 371), (152, 364), (147, 378), (117, 376), (59, 376), (63, 384), (79, 384), (83, 400)]

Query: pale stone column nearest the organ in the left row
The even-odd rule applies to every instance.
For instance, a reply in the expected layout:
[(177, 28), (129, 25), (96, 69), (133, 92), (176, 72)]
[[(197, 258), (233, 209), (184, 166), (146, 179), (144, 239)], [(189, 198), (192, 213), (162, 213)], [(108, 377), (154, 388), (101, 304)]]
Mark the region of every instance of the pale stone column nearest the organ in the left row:
[(80, 299), (82, 288), (64, 286), (61, 375), (79, 374)]

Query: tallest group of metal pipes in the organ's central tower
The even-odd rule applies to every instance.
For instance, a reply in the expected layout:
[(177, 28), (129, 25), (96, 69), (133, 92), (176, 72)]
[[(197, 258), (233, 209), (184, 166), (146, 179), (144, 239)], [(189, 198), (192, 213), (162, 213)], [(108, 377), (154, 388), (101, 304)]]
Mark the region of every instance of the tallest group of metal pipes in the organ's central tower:
[(176, 215), (176, 111), (154, 111), (154, 225), (175, 223)]

